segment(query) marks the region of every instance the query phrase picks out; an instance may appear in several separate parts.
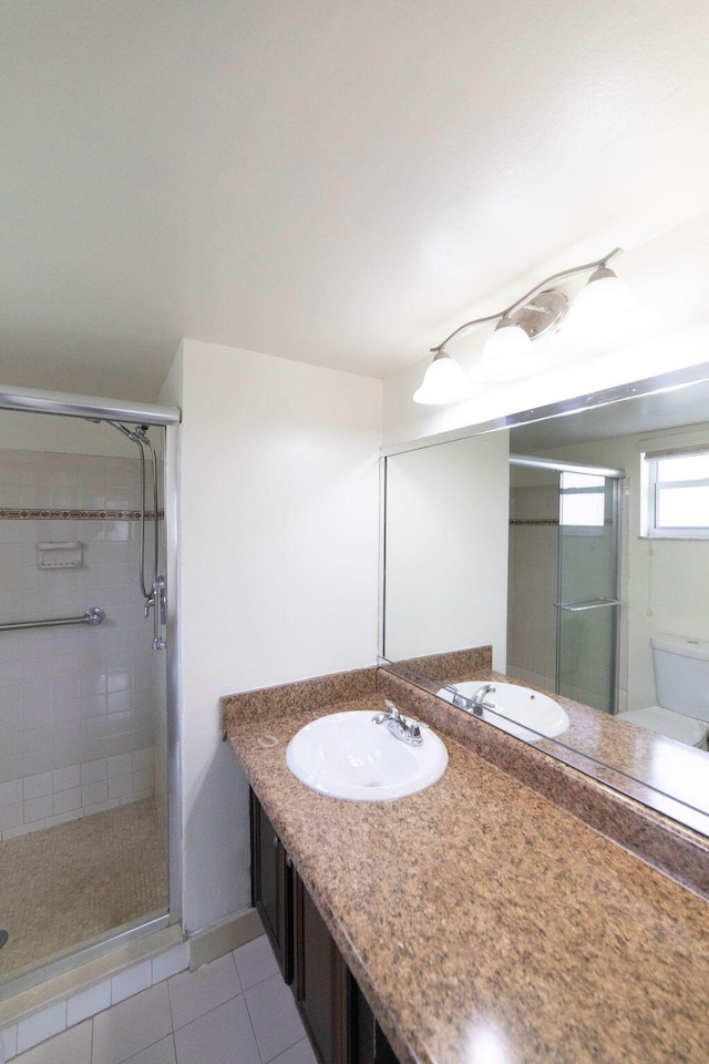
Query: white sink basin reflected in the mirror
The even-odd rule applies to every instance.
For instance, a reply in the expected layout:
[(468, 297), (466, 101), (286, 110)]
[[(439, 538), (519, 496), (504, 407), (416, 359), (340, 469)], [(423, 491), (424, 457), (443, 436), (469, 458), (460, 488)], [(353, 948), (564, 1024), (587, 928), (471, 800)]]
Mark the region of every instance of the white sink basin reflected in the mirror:
[[(458, 692), (465, 698), (472, 698), (480, 686), (479, 679), (451, 684), (450, 688), (442, 687), (439, 695), (448, 702), (453, 700), (453, 692)], [(517, 684), (493, 682), (493, 686), (494, 692), (491, 690), (483, 699), (492, 712), (489, 714), (485, 708), (483, 715), (511, 735), (533, 743), (540, 736), (552, 739), (568, 728), (569, 719), (566, 710), (548, 695)], [(520, 725), (526, 725), (526, 727), (520, 727)]]

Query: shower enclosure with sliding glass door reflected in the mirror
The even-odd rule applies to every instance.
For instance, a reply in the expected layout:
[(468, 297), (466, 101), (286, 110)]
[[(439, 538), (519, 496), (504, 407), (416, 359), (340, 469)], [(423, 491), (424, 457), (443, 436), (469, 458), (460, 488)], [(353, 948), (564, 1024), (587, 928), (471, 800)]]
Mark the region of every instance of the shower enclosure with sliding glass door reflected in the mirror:
[(507, 673), (615, 713), (621, 471), (510, 464)]

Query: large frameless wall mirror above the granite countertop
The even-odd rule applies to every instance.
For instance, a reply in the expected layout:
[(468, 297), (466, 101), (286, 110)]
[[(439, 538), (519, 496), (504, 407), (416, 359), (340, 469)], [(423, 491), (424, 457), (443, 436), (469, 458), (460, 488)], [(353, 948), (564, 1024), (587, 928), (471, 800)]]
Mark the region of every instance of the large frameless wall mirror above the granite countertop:
[[(380, 653), (709, 833), (709, 539), (648, 524), (651, 461), (686, 450), (709, 452), (709, 365), (390, 448)], [(707, 528), (702, 475), (675, 487)], [(465, 675), (453, 652), (485, 645), (490, 675)], [(484, 681), (551, 695), (565, 725), (515, 727), (503, 699), (481, 697)]]

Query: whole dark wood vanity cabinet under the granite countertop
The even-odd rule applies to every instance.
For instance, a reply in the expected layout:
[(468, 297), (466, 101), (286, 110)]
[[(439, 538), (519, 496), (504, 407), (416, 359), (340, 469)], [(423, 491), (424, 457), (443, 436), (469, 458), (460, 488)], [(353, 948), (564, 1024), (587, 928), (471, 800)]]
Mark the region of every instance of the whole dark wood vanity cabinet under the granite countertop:
[(398, 1064), (254, 792), (251, 900), (321, 1064)]

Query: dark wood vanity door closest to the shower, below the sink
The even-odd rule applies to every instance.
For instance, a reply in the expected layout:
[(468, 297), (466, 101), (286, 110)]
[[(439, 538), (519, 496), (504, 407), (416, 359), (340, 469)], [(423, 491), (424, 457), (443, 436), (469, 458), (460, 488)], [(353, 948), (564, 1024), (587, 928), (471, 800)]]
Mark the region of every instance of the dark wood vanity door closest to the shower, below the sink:
[(251, 904), (258, 910), (281, 974), (292, 982), (292, 868), (282, 843), (250, 795)]

